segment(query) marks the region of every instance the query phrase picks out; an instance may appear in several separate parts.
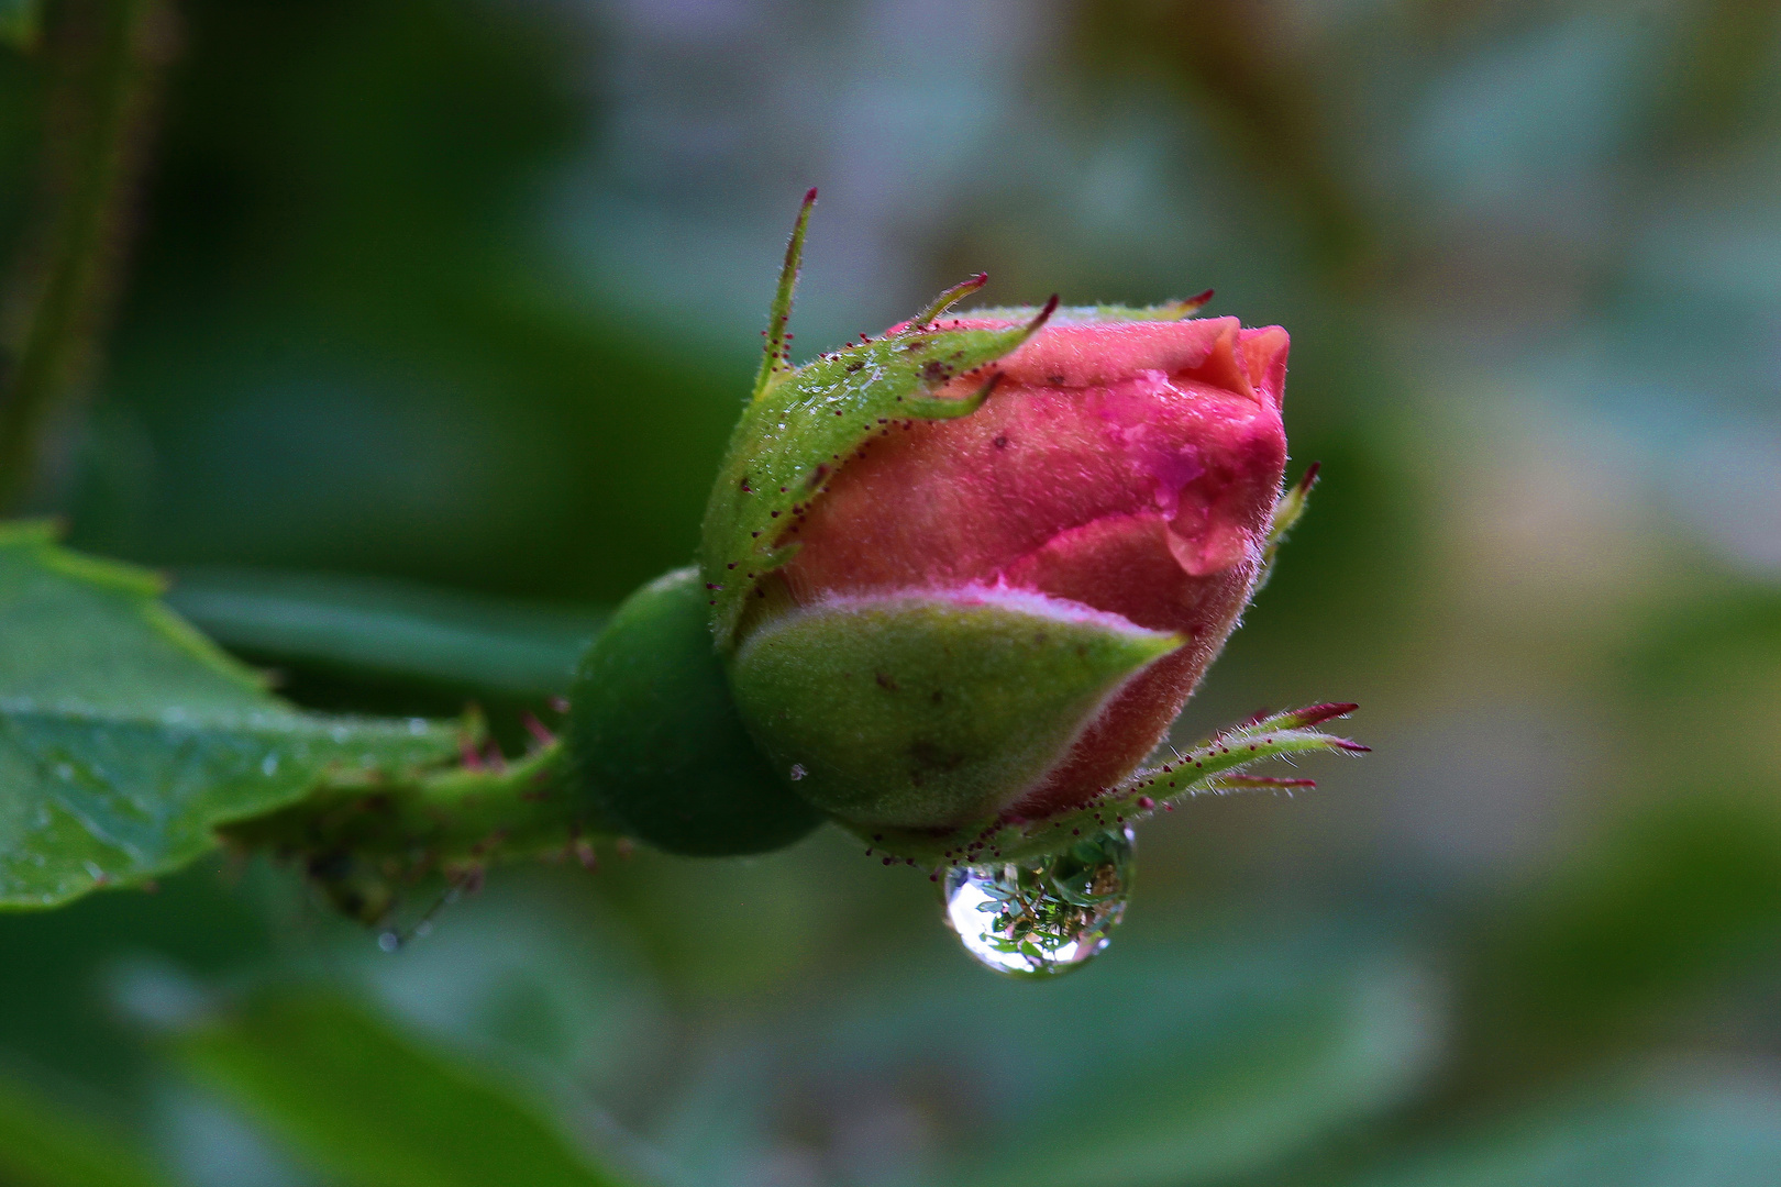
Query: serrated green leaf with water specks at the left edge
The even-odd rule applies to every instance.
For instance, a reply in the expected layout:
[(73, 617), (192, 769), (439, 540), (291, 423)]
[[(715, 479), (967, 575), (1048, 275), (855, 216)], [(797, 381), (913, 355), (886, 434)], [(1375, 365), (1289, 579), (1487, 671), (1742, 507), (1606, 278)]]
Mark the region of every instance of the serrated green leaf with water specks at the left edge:
[(422, 719), (301, 714), (128, 566), (0, 527), (0, 908), (175, 870), (212, 828), (299, 799), (329, 769), (449, 760)]

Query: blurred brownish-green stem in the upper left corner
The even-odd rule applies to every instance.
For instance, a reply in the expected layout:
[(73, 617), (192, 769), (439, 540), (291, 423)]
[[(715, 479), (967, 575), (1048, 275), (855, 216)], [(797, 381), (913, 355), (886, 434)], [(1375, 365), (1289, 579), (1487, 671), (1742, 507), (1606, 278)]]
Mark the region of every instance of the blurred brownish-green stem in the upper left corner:
[(48, 12), (41, 214), (0, 320), (0, 514), (41, 480), (93, 372), (171, 41), (167, 0), (61, 0)]

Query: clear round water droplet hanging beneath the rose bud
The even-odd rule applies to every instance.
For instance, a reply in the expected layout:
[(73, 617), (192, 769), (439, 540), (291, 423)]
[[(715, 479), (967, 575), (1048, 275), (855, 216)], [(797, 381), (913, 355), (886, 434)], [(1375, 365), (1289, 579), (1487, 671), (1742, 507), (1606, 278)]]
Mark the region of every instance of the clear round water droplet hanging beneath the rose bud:
[(1054, 977), (1108, 947), (1131, 893), (1133, 831), (1085, 836), (1067, 852), (946, 872), (946, 922), (980, 965)]

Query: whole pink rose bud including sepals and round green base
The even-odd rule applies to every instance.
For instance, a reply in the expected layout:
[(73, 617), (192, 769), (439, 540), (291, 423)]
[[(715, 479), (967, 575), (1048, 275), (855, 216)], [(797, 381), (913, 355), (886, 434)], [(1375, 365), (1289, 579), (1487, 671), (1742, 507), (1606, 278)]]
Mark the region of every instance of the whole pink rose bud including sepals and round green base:
[(634, 594), (582, 664), (591, 803), (677, 852), (828, 815), (958, 865), (1270, 785), (1236, 774), (1270, 755), (1357, 749), (1284, 714), (1138, 771), (1304, 505), (1314, 472), (1281, 498), (1286, 331), (1191, 317), (1204, 297), (946, 317), (976, 276), (793, 368), (810, 199), (700, 569)]

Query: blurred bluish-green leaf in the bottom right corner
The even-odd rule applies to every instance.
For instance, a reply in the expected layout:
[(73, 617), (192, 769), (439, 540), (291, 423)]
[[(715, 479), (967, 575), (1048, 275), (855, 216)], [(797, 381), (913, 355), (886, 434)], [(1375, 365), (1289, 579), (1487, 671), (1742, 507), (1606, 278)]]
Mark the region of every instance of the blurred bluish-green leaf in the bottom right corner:
[[(1692, 1078), (1683, 1073), (1674, 1078)], [(1701, 1084), (1509, 1118), (1354, 1187), (1770, 1187), (1781, 1183), (1774, 1086)]]

